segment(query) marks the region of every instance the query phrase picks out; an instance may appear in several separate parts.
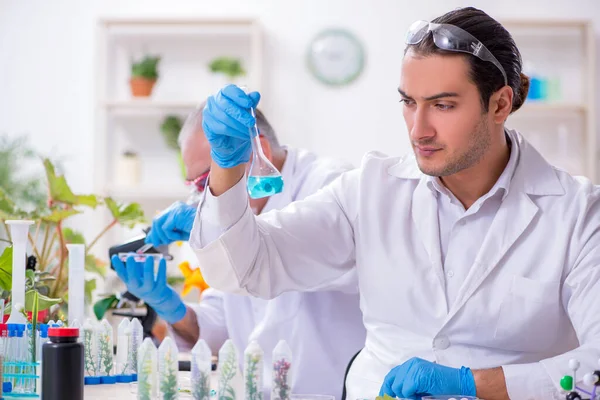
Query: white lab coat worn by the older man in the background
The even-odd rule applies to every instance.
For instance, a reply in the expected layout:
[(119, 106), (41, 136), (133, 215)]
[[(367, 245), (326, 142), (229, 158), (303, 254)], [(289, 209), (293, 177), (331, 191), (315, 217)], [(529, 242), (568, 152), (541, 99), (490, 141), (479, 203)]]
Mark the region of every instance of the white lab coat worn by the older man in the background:
[[(287, 149), (282, 168), (284, 190), (269, 198), (263, 212), (281, 209), (294, 200), (316, 192), (351, 166), (318, 158), (299, 149)], [(200, 262), (204, 270), (204, 262)], [(272, 300), (223, 293), (204, 292), (196, 311), (200, 337), (217, 352), (227, 337), (240, 355), (251, 340), (265, 352), (265, 397), (270, 396), (271, 353), (285, 339), (293, 354), (294, 393), (324, 393), (340, 398), (348, 362), (365, 342), (355, 279), (340, 291), (288, 292)], [(174, 331), (171, 331), (175, 333)], [(182, 348), (189, 349), (176, 334)], [(240, 361), (242, 360), (240, 356)]]

